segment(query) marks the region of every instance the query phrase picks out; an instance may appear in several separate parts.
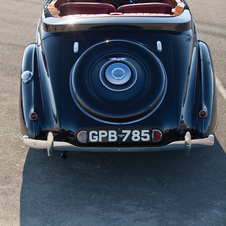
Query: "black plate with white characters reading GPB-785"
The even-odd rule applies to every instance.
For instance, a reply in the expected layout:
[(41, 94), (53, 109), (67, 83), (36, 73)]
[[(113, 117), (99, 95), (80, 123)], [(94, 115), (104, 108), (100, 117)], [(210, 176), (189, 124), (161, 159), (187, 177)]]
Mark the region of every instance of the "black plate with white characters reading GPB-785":
[(109, 129), (88, 131), (89, 143), (128, 143), (128, 142), (150, 142), (150, 129)]

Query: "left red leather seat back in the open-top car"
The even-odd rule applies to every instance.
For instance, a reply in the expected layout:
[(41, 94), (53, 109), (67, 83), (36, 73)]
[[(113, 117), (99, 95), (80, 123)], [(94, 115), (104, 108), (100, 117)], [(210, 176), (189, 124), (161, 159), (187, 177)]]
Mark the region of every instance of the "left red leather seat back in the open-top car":
[(113, 5), (99, 2), (66, 2), (59, 9), (60, 16), (73, 14), (110, 14), (116, 12)]

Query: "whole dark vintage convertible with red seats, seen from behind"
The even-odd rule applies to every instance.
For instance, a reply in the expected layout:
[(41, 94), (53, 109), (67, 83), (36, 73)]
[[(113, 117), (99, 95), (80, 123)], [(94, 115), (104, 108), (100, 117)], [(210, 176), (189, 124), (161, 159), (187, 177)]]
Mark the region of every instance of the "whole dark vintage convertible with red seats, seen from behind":
[(20, 80), (23, 142), (48, 156), (214, 144), (211, 54), (184, 0), (49, 0)]

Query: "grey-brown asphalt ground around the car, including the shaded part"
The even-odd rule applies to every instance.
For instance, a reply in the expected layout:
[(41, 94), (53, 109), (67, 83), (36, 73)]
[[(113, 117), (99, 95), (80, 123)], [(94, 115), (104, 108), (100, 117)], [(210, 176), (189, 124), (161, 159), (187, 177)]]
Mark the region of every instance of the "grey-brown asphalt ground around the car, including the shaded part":
[(161, 153), (60, 153), (24, 147), (21, 60), (45, 0), (1, 1), (0, 225), (226, 225), (226, 1), (187, 0), (218, 78), (213, 148)]

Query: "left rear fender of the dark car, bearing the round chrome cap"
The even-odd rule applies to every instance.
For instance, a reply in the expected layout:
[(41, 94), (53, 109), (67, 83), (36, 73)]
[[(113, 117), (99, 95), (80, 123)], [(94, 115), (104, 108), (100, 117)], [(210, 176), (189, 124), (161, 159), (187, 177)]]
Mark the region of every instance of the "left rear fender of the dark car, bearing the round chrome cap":
[[(26, 78), (26, 79), (25, 79)], [(33, 138), (40, 133), (41, 103), (36, 103), (39, 92), (39, 80), (36, 63), (36, 44), (30, 44), (24, 51), (20, 79), (19, 117), (22, 134)], [(40, 92), (39, 92), (40, 95)], [(39, 98), (40, 100), (40, 98)], [(36, 112), (38, 118), (30, 119), (30, 114)]]

